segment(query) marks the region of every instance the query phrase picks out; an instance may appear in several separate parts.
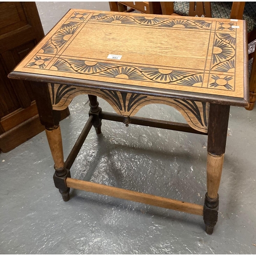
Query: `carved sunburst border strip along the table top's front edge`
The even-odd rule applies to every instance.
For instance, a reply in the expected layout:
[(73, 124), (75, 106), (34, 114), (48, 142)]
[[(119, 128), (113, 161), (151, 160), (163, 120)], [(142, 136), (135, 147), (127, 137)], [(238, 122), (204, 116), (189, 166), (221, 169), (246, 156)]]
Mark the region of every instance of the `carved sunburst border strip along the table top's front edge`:
[(151, 81), (183, 86), (202, 86), (202, 75), (199, 72), (173, 69), (144, 68), (118, 63), (96, 62), (87, 59), (58, 58), (52, 68), (61, 72), (97, 75), (112, 78)]

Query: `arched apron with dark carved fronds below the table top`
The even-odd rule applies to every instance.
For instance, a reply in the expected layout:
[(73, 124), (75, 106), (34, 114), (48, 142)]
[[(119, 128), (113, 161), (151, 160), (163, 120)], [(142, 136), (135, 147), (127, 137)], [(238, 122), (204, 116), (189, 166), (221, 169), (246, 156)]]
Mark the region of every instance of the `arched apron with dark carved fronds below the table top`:
[(143, 106), (160, 103), (178, 110), (195, 130), (207, 132), (209, 103), (206, 102), (148, 96), (107, 89), (89, 89), (54, 83), (49, 83), (49, 91), (54, 110), (66, 109), (72, 99), (80, 94), (93, 94), (103, 98), (111, 104), (117, 114), (122, 116), (134, 116)]

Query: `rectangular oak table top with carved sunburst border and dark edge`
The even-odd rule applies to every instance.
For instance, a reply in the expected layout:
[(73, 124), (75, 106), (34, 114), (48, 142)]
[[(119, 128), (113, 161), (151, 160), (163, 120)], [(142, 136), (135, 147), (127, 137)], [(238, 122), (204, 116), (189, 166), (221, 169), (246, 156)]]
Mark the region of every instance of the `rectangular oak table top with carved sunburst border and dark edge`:
[(71, 9), (10, 78), (248, 105), (244, 20)]

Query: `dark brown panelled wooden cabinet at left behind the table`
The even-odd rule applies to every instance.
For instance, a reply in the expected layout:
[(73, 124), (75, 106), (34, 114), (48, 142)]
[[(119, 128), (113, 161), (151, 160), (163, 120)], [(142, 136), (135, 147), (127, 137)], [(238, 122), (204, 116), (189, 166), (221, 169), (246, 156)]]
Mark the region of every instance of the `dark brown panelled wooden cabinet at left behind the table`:
[[(44, 130), (30, 82), (7, 77), (42, 37), (35, 2), (0, 2), (0, 152)], [(67, 115), (68, 109), (62, 118)]]

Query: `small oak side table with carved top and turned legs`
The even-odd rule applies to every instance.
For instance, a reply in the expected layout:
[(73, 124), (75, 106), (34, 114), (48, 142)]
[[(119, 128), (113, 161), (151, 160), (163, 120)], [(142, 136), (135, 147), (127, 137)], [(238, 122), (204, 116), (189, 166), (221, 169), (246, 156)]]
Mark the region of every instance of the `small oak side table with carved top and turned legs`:
[[(33, 81), (41, 123), (63, 200), (70, 187), (202, 215), (211, 234), (218, 219), (230, 105), (248, 106), (247, 41), (243, 20), (70, 10), (9, 74)], [(79, 94), (89, 119), (63, 159), (59, 111)], [(117, 114), (102, 112), (97, 96)], [(134, 117), (142, 106), (173, 106), (187, 124)], [(72, 179), (70, 168), (92, 126), (113, 120), (208, 135), (204, 205)]]

